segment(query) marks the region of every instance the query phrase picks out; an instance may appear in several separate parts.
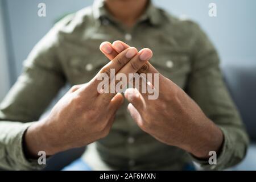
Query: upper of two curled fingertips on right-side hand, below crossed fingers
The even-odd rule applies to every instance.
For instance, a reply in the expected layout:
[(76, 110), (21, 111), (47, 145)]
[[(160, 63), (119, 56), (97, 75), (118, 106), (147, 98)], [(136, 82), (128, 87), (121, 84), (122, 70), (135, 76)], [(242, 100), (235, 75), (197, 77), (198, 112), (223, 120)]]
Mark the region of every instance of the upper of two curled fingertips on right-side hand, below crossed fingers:
[(139, 111), (146, 110), (146, 102), (137, 89), (129, 88), (125, 91), (125, 98)]

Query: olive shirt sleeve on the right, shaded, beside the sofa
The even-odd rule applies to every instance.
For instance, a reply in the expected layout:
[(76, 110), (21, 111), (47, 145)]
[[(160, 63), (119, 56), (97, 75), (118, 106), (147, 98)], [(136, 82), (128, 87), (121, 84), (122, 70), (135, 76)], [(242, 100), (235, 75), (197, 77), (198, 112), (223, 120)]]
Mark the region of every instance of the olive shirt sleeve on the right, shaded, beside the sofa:
[(225, 169), (240, 163), (246, 155), (249, 138), (240, 114), (224, 84), (216, 49), (197, 24), (193, 28), (192, 72), (187, 93), (224, 134), (224, 143), (217, 156), (217, 165), (192, 159), (203, 169)]

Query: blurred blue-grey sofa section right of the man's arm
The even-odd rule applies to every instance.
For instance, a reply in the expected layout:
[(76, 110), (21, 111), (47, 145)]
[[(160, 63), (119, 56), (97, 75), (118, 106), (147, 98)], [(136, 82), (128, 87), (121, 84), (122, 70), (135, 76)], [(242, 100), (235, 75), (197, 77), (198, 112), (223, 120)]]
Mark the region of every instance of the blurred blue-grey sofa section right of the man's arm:
[(250, 63), (225, 64), (222, 72), (229, 92), (240, 110), (250, 136), (245, 160), (233, 170), (256, 170), (256, 60)]

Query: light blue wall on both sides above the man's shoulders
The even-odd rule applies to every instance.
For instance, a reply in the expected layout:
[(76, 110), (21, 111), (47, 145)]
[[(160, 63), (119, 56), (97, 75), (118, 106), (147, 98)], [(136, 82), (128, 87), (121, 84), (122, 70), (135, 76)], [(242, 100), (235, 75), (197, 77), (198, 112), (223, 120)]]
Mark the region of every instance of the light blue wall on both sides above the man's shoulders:
[[(16, 75), (32, 47), (61, 15), (90, 5), (92, 0), (4, 0), (10, 20), (10, 35)], [(38, 3), (47, 5), (47, 17), (37, 15)], [(224, 63), (256, 63), (255, 0), (155, 0), (157, 5), (177, 16), (186, 14), (207, 32), (220, 52)], [(208, 16), (210, 2), (217, 4), (217, 17)], [(11, 40), (9, 39), (9, 40)]]

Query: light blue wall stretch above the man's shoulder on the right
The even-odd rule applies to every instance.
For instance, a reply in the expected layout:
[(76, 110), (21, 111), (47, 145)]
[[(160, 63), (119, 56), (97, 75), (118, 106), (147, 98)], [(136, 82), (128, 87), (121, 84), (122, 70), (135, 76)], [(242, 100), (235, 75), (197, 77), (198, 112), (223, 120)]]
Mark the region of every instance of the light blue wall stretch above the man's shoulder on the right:
[[(216, 18), (208, 15), (211, 2), (217, 5)], [(200, 23), (223, 62), (256, 64), (255, 0), (155, 0), (155, 3), (172, 14), (187, 14)]]

